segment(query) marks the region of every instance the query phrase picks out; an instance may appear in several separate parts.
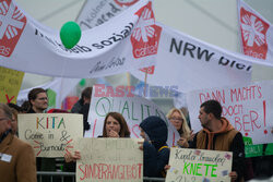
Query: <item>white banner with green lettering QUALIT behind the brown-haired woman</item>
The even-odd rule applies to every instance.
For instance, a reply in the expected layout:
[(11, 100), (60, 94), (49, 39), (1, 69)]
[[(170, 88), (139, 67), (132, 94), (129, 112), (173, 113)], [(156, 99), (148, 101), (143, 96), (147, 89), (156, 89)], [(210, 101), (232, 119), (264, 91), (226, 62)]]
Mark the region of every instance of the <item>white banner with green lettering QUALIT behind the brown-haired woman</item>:
[(91, 129), (85, 132), (85, 137), (103, 135), (104, 120), (108, 112), (119, 112), (123, 116), (131, 137), (141, 138), (140, 123), (150, 116), (157, 116), (165, 120), (168, 126), (168, 146), (175, 146), (176, 141), (180, 138), (175, 126), (153, 101), (133, 95), (129, 86), (115, 88), (105, 85), (93, 86), (88, 113)]

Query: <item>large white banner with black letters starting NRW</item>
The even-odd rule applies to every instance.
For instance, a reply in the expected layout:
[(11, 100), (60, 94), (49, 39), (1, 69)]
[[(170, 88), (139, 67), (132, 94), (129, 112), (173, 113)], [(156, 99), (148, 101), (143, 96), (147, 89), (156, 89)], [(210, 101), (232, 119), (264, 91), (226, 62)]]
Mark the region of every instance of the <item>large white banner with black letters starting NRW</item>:
[[(176, 85), (182, 93), (193, 89), (245, 84), (251, 81), (252, 63), (264, 62), (198, 40), (189, 35), (156, 23), (162, 28), (156, 66), (147, 69), (147, 83)], [(131, 71), (144, 81), (143, 71)]]

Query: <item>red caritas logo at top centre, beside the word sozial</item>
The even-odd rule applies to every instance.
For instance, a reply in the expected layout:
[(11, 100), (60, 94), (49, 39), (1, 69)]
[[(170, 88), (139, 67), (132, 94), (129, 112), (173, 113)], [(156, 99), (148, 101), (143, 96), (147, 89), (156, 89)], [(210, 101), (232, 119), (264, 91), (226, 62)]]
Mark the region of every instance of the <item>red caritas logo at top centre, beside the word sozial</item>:
[(162, 27), (155, 25), (152, 3), (143, 7), (135, 13), (140, 19), (132, 32), (131, 43), (133, 57), (142, 58), (157, 53)]

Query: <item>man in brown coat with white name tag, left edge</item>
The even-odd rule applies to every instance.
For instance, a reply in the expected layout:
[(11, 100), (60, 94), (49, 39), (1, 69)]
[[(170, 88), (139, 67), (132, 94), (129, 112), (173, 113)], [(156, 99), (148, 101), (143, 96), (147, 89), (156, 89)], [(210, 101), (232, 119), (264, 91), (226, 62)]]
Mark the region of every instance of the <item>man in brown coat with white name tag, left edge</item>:
[(0, 104), (0, 178), (7, 182), (36, 182), (35, 155), (32, 146), (12, 134), (12, 112)]

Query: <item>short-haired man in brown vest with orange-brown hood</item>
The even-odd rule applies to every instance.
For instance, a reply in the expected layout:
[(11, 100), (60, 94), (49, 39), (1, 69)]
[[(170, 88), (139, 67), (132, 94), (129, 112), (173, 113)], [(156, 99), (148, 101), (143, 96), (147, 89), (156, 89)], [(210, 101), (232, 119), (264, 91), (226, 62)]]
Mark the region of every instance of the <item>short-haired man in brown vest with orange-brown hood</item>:
[(240, 182), (244, 181), (245, 168), (242, 135), (221, 114), (222, 106), (216, 100), (207, 100), (200, 106), (199, 120), (203, 130), (195, 134), (189, 148), (233, 151), (229, 177), (233, 182)]

